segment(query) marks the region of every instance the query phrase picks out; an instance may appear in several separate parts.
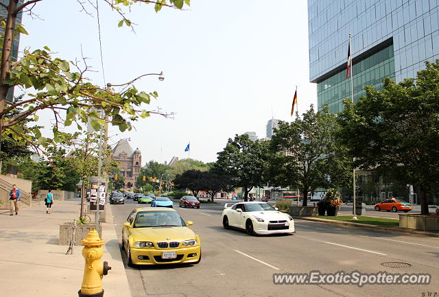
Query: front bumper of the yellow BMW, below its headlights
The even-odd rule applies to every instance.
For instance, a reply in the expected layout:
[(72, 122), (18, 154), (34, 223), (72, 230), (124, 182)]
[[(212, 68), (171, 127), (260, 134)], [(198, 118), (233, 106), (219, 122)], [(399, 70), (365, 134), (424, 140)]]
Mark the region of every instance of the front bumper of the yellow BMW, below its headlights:
[[(163, 252), (176, 252), (176, 259), (161, 259)], [(197, 254), (195, 257), (188, 257), (189, 254)], [(201, 246), (187, 248), (131, 248), (131, 260), (136, 265), (176, 264), (194, 263), (200, 259)], [(147, 259), (139, 259), (139, 257)]]

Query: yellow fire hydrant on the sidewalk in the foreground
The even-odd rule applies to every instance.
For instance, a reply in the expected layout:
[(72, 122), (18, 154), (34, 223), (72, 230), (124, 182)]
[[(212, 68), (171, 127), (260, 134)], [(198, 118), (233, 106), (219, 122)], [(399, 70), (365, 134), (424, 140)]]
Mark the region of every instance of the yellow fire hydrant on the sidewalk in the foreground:
[(99, 238), (99, 234), (95, 229), (90, 230), (88, 237), (82, 239), (84, 249), (82, 249), (82, 257), (85, 259), (84, 278), (82, 278), (82, 286), (78, 292), (80, 297), (102, 297), (104, 289), (102, 289), (102, 276), (108, 274), (110, 266), (104, 261), (100, 262), (104, 254), (104, 239)]

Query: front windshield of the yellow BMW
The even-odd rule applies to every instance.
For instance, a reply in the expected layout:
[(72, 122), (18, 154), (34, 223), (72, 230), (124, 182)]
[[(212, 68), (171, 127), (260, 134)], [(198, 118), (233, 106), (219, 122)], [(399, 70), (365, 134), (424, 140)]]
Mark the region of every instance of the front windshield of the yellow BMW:
[(134, 220), (134, 228), (186, 226), (176, 211), (141, 211)]

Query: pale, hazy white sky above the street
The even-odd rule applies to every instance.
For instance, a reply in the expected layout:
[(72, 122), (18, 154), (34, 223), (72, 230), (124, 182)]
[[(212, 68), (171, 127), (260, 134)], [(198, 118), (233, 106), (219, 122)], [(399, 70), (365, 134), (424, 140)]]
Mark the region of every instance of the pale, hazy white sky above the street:
[[(21, 36), (20, 50), (47, 45), (59, 58), (84, 56), (93, 69), (88, 78), (102, 86), (163, 71), (163, 82), (150, 75), (135, 86), (158, 92), (145, 110), (160, 108), (174, 116), (154, 115), (134, 122), (130, 132), (110, 128), (108, 133), (110, 144), (129, 138), (133, 149), (141, 150), (143, 164), (169, 162), (172, 156), (213, 162), (235, 134), (254, 131), (265, 137), (268, 120), (294, 119), (296, 86), (300, 114), (316, 106), (316, 84), (309, 82), (307, 1), (191, 0), (189, 10), (158, 13), (153, 5), (136, 4), (127, 11), (135, 23), (132, 32), (118, 27), (120, 16), (98, 0), (104, 67), (98, 18), (90, 5), (96, 1), (84, 2), (86, 12), (76, 0), (36, 3), (35, 16), (23, 16), (29, 35)], [(53, 123), (49, 112), (41, 112), (40, 119), (47, 129)]]

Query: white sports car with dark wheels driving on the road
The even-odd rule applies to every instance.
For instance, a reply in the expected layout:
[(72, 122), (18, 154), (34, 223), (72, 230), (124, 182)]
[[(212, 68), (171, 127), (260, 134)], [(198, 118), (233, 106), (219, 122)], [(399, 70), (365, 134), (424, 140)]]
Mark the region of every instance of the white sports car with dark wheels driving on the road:
[(239, 202), (232, 206), (225, 204), (222, 226), (225, 229), (244, 229), (248, 235), (296, 233), (292, 216), (277, 211), (265, 202)]

